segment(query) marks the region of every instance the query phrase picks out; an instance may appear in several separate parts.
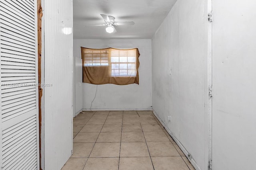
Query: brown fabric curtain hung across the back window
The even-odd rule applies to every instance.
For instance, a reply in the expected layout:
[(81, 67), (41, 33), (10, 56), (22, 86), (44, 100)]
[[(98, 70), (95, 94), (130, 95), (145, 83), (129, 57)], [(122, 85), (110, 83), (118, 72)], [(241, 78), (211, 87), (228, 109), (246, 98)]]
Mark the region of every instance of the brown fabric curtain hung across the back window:
[(81, 47), (83, 82), (91, 84), (139, 84), (138, 49), (88, 49)]

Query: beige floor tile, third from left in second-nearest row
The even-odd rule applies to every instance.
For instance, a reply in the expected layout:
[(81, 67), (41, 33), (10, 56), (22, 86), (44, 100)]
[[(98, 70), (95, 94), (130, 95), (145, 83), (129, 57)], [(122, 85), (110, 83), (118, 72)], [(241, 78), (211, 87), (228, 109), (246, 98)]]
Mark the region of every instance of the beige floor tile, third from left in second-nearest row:
[(141, 156), (149, 157), (148, 147), (145, 142), (121, 143), (120, 157)]

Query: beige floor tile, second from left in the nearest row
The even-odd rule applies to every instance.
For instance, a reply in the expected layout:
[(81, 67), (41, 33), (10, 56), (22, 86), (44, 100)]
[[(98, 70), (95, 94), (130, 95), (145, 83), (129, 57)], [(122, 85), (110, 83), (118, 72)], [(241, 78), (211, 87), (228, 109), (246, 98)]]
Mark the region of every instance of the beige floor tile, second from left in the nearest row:
[(118, 170), (119, 158), (89, 158), (84, 170)]

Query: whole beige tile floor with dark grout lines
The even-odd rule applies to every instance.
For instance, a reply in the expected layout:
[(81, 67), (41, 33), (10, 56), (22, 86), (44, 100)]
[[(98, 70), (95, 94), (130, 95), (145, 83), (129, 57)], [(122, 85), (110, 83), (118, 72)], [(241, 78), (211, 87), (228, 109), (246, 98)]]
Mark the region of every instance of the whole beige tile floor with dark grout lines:
[(152, 111), (84, 111), (62, 170), (194, 170)]

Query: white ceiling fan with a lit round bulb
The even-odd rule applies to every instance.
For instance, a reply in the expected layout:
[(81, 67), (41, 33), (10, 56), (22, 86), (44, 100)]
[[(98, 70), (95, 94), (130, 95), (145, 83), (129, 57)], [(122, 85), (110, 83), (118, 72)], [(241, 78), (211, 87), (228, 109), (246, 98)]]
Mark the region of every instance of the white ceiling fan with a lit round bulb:
[(91, 27), (91, 26), (104, 26), (104, 25), (108, 25), (106, 27), (106, 31), (108, 33), (115, 33), (116, 29), (114, 27), (114, 25), (118, 26), (118, 25), (134, 25), (134, 21), (126, 21), (126, 22), (115, 22), (115, 18), (113, 16), (108, 16), (105, 14), (100, 14), (102, 16), (102, 18), (105, 21), (105, 24), (100, 24), (100, 25), (89, 25), (87, 27)]

